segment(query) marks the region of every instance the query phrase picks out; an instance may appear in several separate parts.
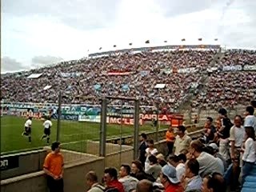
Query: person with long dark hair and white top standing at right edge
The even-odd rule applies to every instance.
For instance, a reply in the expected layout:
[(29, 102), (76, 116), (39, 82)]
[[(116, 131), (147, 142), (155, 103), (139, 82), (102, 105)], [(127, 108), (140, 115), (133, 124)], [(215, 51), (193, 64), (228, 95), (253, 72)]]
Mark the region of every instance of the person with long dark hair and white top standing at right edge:
[(245, 136), (245, 148), (242, 149), (242, 184), (245, 182), (245, 178), (250, 174), (250, 170), (253, 169), (254, 162), (256, 161), (256, 147), (255, 147), (255, 132), (254, 127), (246, 126)]

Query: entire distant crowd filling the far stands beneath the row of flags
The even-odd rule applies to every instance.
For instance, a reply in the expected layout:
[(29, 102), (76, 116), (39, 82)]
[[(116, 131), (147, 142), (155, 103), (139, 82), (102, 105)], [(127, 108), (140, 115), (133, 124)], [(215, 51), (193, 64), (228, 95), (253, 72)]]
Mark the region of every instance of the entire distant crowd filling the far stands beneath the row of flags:
[[(168, 109), (177, 109), (188, 98), (191, 88), (197, 88), (201, 83), (201, 73), (209, 69), (217, 53), (218, 50), (126, 52), (64, 62), (2, 76), (2, 99), (9, 102), (57, 102), (58, 90), (62, 90), (62, 103), (68, 104), (98, 104), (98, 98), (107, 94), (141, 98), (145, 106), (152, 106), (160, 100)], [(230, 50), (226, 51), (218, 66), (254, 65), (255, 57), (255, 51)], [(191, 67), (197, 72), (174, 73)], [(30, 74), (42, 75), (27, 78)], [(210, 74), (206, 90), (198, 90), (193, 106), (213, 108), (216, 105), (243, 104), (249, 98), (255, 98), (255, 82), (255, 72), (214, 72)], [(166, 84), (166, 87), (155, 89), (159, 83)], [(45, 86), (51, 87), (43, 90)], [(215, 101), (217, 98), (218, 102)]]

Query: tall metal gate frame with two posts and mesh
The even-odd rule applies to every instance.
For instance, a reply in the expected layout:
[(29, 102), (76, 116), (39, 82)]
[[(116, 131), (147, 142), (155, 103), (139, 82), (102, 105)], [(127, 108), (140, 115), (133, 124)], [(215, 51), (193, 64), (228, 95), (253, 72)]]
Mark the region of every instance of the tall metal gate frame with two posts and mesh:
[[(120, 102), (120, 108), (115, 113), (108, 113), (109, 104), (113, 101)], [(134, 114), (126, 116), (123, 109), (127, 102), (134, 102)], [(114, 122), (115, 124), (111, 124)], [(127, 125), (128, 124), (128, 125)], [(133, 125), (133, 126), (131, 126)], [(133, 146), (126, 145), (125, 138), (133, 134)], [(118, 159), (113, 159), (120, 166), (128, 159), (125, 151), (132, 153), (133, 158), (138, 156), (138, 134), (139, 134), (139, 101), (136, 98), (102, 98), (101, 131), (100, 131), (100, 150), (99, 154), (106, 157), (109, 154), (116, 154)], [(130, 153), (128, 153), (130, 154)], [(131, 158), (131, 157), (128, 157)]]

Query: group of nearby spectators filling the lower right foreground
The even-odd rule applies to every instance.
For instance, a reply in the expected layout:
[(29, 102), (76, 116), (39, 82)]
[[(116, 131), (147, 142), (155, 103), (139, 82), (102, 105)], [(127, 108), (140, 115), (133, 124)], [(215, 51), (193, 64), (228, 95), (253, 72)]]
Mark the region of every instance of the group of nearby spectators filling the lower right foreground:
[[(153, 140), (141, 134), (138, 159), (120, 166), (119, 172), (106, 168), (102, 181), (93, 170), (89, 171), (88, 192), (253, 191), (256, 101), (251, 105), (234, 120), (227, 117), (224, 108), (218, 110), (217, 119), (207, 118), (202, 138), (190, 138), (184, 126), (170, 127), (166, 132), (166, 156), (158, 152)], [(254, 175), (250, 178), (252, 170)]]

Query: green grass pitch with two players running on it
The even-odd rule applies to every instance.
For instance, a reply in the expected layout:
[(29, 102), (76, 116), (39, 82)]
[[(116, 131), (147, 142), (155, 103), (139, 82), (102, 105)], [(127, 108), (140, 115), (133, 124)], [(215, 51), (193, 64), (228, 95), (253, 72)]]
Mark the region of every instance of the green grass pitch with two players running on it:
[[(32, 121), (32, 142), (28, 138), (22, 137), (26, 118), (14, 116), (1, 117), (1, 153), (14, 153), (14, 151), (31, 150), (46, 146), (46, 140), (40, 140), (43, 134), (42, 120)], [(50, 141), (56, 140), (57, 121), (53, 120)], [(161, 129), (167, 126), (161, 126)], [(120, 125), (107, 125), (107, 138), (120, 137)], [(73, 122), (62, 121), (60, 130), (60, 141), (64, 143), (64, 148), (69, 150), (86, 151), (86, 140), (99, 140), (100, 124), (94, 122)], [(150, 125), (140, 126), (140, 132), (154, 131)], [(122, 136), (133, 135), (134, 126), (122, 125)], [(69, 143), (71, 142), (71, 143)], [(65, 144), (66, 143), (66, 144)]]

